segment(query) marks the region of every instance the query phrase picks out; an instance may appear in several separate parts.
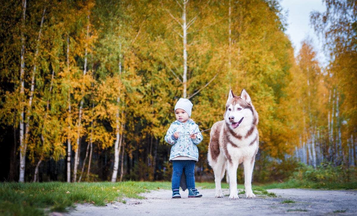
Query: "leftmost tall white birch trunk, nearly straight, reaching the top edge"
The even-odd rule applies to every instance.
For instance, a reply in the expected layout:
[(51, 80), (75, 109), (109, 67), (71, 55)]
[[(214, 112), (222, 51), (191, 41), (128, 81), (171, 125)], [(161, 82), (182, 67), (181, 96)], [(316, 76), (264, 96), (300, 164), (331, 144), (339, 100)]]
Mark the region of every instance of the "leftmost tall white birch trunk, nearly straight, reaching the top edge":
[(25, 98), (25, 18), (26, 18), (26, 0), (22, 0), (22, 27), (21, 27), (21, 63), (20, 63), (20, 97), (21, 97), (21, 114), (20, 114), (20, 173), (19, 182), (25, 181), (25, 159), (26, 145), (24, 143), (24, 98)]

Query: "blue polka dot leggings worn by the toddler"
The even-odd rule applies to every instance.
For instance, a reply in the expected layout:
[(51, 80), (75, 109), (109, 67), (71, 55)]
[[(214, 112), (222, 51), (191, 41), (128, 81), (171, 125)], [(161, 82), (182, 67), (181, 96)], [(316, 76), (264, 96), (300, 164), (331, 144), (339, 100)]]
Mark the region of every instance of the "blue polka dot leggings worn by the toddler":
[(172, 190), (180, 188), (183, 168), (185, 168), (187, 188), (195, 188), (195, 160), (172, 160)]

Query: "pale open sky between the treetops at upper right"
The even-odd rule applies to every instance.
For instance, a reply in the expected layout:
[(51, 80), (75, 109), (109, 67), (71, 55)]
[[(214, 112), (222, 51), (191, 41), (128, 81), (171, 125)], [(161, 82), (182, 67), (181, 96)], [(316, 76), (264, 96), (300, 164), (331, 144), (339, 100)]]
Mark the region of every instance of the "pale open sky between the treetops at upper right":
[(283, 8), (283, 14), (287, 12), (287, 30), (292, 46), (294, 47), (295, 56), (297, 56), (301, 42), (305, 39), (312, 39), (312, 45), (317, 52), (317, 59), (321, 65), (326, 65), (327, 61), (322, 52), (321, 39), (319, 41), (313, 27), (310, 25), (310, 12), (326, 11), (326, 6), (322, 0), (281, 0), (280, 5)]

